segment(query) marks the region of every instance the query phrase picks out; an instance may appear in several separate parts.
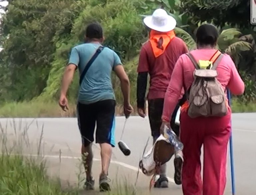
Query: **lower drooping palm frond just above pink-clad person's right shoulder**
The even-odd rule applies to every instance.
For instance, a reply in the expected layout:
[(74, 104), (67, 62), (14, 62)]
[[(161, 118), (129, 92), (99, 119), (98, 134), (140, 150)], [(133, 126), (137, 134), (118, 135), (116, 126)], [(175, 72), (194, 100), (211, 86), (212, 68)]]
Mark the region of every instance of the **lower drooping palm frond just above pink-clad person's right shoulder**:
[(251, 50), (251, 49), (252, 49), (252, 44), (251, 43), (248, 43), (246, 41), (237, 41), (237, 42), (229, 45), (225, 49), (225, 53), (233, 56), (233, 55), (237, 55), (241, 51), (248, 51), (248, 50)]

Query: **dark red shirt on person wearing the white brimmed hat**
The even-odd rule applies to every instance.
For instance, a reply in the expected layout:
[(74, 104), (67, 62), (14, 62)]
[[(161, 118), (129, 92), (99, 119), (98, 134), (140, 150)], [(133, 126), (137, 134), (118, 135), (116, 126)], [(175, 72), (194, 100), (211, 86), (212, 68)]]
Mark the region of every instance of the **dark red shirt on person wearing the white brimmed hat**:
[(178, 37), (174, 37), (165, 52), (157, 58), (149, 41), (142, 46), (138, 72), (148, 72), (150, 75), (148, 99), (164, 98), (176, 61), (187, 52), (185, 42)]

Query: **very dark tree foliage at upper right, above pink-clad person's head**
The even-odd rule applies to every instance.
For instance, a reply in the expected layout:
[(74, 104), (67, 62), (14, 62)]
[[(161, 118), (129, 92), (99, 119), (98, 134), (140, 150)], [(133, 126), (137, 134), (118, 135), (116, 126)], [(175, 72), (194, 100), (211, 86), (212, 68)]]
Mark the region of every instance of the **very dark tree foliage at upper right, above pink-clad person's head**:
[(213, 21), (218, 26), (229, 24), (238, 28), (251, 28), (250, 0), (181, 0), (183, 11), (195, 22)]

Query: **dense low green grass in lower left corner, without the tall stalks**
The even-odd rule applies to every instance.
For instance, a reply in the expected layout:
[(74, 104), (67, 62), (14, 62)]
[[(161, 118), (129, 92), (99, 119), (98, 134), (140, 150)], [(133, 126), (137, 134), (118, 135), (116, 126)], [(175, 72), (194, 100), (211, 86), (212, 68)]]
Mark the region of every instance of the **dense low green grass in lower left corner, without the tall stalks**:
[(22, 155), (0, 157), (0, 194), (2, 195), (75, 195), (63, 192), (60, 184), (46, 176), (45, 161)]

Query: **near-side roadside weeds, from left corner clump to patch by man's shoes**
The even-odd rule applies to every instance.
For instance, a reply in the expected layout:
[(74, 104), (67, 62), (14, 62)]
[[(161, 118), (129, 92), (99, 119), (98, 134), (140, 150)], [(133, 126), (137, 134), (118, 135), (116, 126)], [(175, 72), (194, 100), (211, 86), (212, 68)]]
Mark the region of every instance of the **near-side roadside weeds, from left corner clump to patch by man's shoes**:
[[(40, 134), (38, 138), (29, 139), (28, 131), (34, 123)], [(35, 126), (35, 125), (34, 125)], [(44, 157), (43, 126), (36, 120), (30, 123), (21, 120), (0, 121), (0, 194), (1, 195), (84, 195), (82, 189), (85, 171), (82, 159), (78, 160), (76, 181), (61, 182), (61, 151), (56, 173), (49, 177), (47, 158)], [(86, 157), (86, 155), (85, 155)], [(48, 173), (48, 174), (47, 174)], [(62, 178), (63, 179), (63, 178)], [(66, 181), (66, 178), (65, 178)], [(108, 195), (135, 195), (134, 187), (127, 180), (116, 181)], [(97, 192), (97, 191), (96, 191)]]

